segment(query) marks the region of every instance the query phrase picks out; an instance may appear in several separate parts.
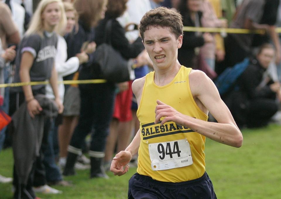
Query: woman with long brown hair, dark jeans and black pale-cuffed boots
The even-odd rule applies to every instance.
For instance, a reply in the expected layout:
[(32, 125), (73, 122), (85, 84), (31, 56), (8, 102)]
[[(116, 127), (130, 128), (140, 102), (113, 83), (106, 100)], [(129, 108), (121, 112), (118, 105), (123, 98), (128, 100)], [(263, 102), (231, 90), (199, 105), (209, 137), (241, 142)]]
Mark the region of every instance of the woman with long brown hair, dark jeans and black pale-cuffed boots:
[[(83, 42), (94, 41), (95, 26), (100, 19), (104, 18), (106, 5), (106, 0), (86, 0), (86, 2), (85, 0), (77, 0), (75, 2), (75, 8), (79, 14), (79, 30), (78, 33), (74, 35), (75, 39), (70, 40), (69, 44), (74, 46), (76, 50), (82, 48)], [(87, 49), (87, 47), (85, 48)], [(69, 52), (68, 56), (70, 55), (71, 52)], [(95, 52), (88, 55), (89, 61), (80, 67), (79, 79), (98, 79), (100, 78), (99, 73), (93, 71), (96, 66), (94, 64)], [(92, 141), (89, 153), (90, 156), (92, 156), (92, 154), (97, 154), (97, 156), (100, 157), (100, 154), (102, 154), (104, 150), (104, 140), (107, 136), (112, 115), (112, 104), (114, 100), (113, 83), (79, 85), (79, 90), (81, 100), (80, 116), (78, 124), (73, 132), (70, 145), (68, 146), (66, 165), (63, 172), (65, 176), (75, 174), (74, 165), (76, 159), (78, 155), (82, 153), (81, 148), (83, 142), (91, 130), (93, 130), (93, 133), (91, 136)], [(71, 96), (69, 97), (71, 98)], [(99, 161), (100, 159), (97, 161), (91, 159), (91, 177), (103, 176), (103, 172), (100, 170), (101, 161)]]

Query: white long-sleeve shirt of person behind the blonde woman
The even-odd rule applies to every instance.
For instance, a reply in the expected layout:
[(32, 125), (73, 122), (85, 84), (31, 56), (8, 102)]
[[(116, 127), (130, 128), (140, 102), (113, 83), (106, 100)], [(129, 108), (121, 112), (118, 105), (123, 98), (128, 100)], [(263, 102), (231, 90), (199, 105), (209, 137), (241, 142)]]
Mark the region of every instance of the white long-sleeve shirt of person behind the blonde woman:
[[(67, 61), (67, 44), (64, 37), (58, 35), (57, 54), (55, 59), (56, 72), (58, 73), (58, 81), (62, 81), (64, 76), (70, 75), (78, 70), (78, 57), (71, 57)], [(46, 86), (46, 95), (50, 99), (54, 99), (54, 93), (51, 85)], [(59, 97), (64, 101), (64, 84), (59, 84)]]

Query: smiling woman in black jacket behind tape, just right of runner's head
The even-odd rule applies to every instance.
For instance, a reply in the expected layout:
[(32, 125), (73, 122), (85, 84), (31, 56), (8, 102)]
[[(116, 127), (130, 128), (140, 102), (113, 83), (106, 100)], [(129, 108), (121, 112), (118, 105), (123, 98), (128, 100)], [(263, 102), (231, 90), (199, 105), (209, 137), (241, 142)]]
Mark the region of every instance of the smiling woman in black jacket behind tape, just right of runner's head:
[[(201, 27), (202, 12), (200, 11), (202, 0), (181, 0), (179, 12), (183, 17), (184, 26)], [(185, 67), (196, 68), (195, 55), (199, 48), (206, 42), (213, 42), (210, 33), (184, 32), (182, 46), (178, 51), (179, 62)]]

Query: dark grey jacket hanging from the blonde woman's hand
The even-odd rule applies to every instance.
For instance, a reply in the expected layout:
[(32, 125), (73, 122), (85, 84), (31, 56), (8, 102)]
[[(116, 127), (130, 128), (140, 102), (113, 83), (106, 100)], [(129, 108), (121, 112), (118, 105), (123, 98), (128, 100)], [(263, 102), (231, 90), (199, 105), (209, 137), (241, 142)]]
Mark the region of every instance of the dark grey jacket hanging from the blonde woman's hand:
[(42, 112), (32, 119), (27, 110), (27, 103), (20, 105), (12, 116), (10, 126), (13, 135), (13, 155), (15, 170), (19, 184), (27, 184), (28, 175), (42, 143), (44, 121), (57, 116), (58, 110), (55, 102), (45, 95), (38, 94), (35, 99), (42, 107)]

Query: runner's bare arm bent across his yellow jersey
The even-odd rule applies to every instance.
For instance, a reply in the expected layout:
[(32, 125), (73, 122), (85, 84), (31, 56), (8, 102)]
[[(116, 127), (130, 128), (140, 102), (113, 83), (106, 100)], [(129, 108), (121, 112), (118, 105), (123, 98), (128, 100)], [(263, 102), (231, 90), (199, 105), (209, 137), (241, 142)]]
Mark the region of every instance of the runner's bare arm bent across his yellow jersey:
[(155, 108), (155, 122), (157, 123), (161, 117), (165, 117), (161, 125), (167, 121), (174, 121), (219, 143), (241, 147), (243, 142), (242, 133), (226, 104), (220, 98), (215, 84), (202, 71), (196, 70), (192, 73), (189, 75), (189, 83), (193, 98), (199, 100), (210, 111), (217, 123), (181, 114), (159, 100), (157, 100), (158, 105)]

